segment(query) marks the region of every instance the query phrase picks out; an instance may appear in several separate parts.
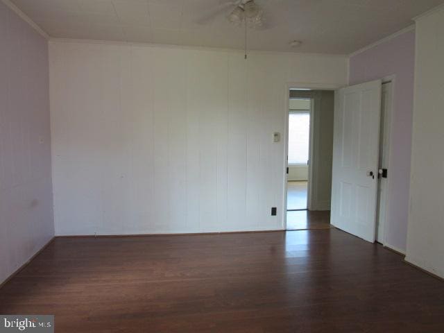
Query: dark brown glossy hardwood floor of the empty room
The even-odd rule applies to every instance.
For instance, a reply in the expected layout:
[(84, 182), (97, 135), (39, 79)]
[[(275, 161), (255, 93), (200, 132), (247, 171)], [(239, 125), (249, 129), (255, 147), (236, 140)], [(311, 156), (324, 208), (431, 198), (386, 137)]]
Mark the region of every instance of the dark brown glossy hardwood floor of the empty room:
[(336, 229), (58, 238), (0, 289), (56, 332), (444, 332), (444, 282)]

